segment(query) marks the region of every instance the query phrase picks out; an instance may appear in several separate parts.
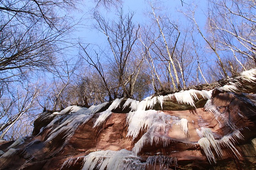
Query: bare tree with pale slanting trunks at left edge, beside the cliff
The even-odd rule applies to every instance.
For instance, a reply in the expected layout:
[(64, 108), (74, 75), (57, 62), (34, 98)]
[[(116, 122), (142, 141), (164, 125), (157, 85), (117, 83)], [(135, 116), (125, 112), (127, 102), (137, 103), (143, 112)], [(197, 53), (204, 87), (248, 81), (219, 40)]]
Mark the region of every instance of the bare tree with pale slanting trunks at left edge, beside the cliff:
[[(0, 100), (0, 138), (4, 138), (6, 133), (25, 115), (28, 116), (35, 109), (38, 110), (36, 98), (40, 95), (42, 86), (26, 84), (25, 86), (19, 85), (17, 88), (10, 85), (8, 84), (8, 93), (3, 94)], [(31, 121), (24, 122), (23, 125)], [(19, 131), (14, 131), (12, 134), (12, 139), (15, 139)]]

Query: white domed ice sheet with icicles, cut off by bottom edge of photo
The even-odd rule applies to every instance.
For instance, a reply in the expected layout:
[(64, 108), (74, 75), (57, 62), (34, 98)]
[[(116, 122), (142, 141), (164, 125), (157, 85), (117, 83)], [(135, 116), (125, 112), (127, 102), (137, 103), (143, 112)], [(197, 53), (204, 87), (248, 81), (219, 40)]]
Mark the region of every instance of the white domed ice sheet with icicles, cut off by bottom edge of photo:
[(140, 157), (129, 150), (101, 150), (84, 157), (82, 170), (144, 170), (145, 166)]

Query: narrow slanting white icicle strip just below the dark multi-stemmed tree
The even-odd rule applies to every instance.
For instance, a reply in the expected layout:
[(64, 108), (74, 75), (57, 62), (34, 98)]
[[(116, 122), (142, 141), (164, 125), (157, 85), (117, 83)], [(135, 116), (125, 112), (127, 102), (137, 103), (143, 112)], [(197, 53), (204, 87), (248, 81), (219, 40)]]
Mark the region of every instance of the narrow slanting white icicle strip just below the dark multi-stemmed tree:
[(116, 107), (118, 107), (120, 105), (120, 103), (122, 102), (123, 98), (121, 99), (116, 99), (112, 102), (112, 104), (108, 107), (108, 109), (106, 109), (105, 111), (100, 113), (100, 116), (98, 117), (98, 119), (96, 120), (96, 122), (94, 123), (93, 127), (97, 127), (99, 126), (102, 122), (104, 122), (106, 120), (106, 118), (108, 118), (108, 116), (112, 113), (111, 111), (113, 109), (116, 109)]

